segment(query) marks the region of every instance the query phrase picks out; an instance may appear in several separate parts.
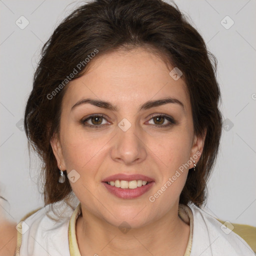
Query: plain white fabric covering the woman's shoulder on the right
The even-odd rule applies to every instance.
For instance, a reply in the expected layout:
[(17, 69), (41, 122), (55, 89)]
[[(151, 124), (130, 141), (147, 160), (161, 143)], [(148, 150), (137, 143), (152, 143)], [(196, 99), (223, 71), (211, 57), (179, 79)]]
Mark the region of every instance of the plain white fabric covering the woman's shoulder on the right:
[(190, 256), (254, 256), (249, 245), (213, 216), (190, 204), (193, 213), (193, 234)]

